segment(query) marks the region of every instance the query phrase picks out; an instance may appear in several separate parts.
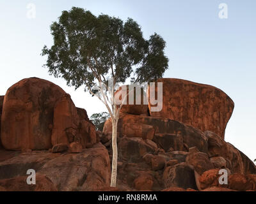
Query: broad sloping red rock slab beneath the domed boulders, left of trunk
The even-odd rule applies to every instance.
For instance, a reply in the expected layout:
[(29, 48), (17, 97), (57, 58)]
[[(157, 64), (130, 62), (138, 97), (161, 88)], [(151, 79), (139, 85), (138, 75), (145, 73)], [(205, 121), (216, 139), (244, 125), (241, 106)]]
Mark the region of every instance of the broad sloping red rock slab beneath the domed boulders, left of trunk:
[[(1, 152), (1, 154), (6, 152)], [(53, 154), (37, 151), (19, 154), (1, 161), (0, 186), (7, 191), (21, 191), (20, 187), (23, 186), (25, 186), (24, 190), (36, 191), (36, 189), (29, 189), (26, 180), (24, 180), (24, 177), (28, 178), (26, 175), (28, 169), (34, 169), (36, 173), (44, 175), (44, 178), (47, 177), (49, 187), (52, 187), (52, 190), (93, 191), (110, 185), (111, 173), (108, 151), (100, 143), (93, 145), (90, 149), (83, 149), (81, 153), (77, 154)], [(19, 182), (15, 184), (16, 181)], [(36, 177), (35, 187), (40, 187), (40, 183), (42, 183), (40, 181), (41, 179), (37, 180)], [(12, 185), (9, 189), (6, 185), (10, 183)], [(41, 190), (44, 189), (38, 189), (38, 191)]]

